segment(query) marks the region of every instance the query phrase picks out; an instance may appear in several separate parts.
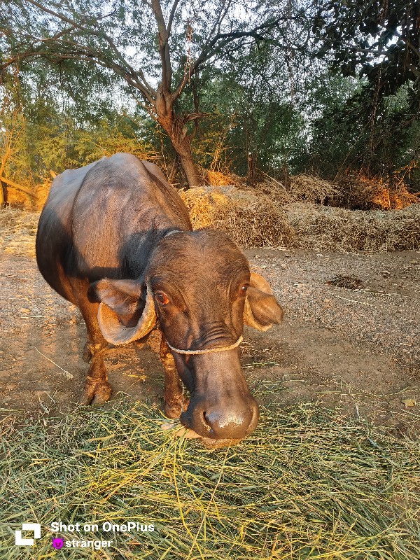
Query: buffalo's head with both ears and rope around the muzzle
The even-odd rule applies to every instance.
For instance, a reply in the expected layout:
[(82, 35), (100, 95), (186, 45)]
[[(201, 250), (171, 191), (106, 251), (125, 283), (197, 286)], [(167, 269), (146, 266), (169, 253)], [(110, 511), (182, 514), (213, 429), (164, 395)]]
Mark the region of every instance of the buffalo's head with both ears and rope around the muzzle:
[(258, 423), (258, 405), (241, 371), (244, 323), (267, 330), (282, 310), (265, 279), (225, 234), (171, 232), (139, 280), (92, 284), (98, 321), (112, 344), (140, 339), (159, 321), (190, 391), (181, 423), (207, 442), (241, 440)]

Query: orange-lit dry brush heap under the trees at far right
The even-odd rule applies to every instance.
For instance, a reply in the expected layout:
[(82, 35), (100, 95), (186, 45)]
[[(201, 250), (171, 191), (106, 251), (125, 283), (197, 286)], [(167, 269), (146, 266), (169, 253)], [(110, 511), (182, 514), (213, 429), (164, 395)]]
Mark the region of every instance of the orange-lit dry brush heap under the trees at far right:
[(342, 195), (337, 206), (360, 210), (400, 210), (420, 202), (420, 198), (409, 193), (407, 186), (390, 186), (381, 179), (370, 179), (363, 175), (344, 175), (337, 180)]

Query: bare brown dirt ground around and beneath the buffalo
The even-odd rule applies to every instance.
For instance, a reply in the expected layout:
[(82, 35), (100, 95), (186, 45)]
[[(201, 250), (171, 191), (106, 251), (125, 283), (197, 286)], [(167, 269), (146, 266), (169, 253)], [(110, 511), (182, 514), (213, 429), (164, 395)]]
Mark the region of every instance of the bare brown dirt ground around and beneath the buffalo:
[[(258, 402), (339, 405), (418, 437), (420, 253), (245, 253), (285, 311), (283, 325), (268, 332), (246, 328), (241, 360)], [(87, 365), (83, 318), (43, 281), (30, 254), (0, 253), (0, 414), (36, 418), (74, 406)], [(153, 335), (143, 348), (109, 353), (113, 398), (161, 405), (157, 343)]]

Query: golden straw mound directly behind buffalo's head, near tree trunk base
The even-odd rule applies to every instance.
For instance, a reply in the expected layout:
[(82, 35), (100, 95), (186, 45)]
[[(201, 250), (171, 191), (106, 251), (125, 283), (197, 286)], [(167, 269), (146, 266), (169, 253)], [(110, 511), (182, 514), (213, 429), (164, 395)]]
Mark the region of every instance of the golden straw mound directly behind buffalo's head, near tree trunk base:
[(288, 246), (293, 237), (285, 214), (269, 197), (235, 187), (199, 188), (180, 193), (193, 227), (223, 230), (250, 246)]

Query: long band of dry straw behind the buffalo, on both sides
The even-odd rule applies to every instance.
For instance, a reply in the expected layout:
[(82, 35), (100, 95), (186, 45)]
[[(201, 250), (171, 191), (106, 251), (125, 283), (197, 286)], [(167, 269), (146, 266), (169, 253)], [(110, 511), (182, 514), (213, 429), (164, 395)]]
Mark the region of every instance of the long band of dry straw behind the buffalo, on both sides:
[[(317, 251), (420, 250), (420, 204), (403, 210), (361, 211), (309, 202), (277, 202), (274, 195), (233, 186), (181, 191), (195, 229), (223, 230), (242, 247)], [(34, 256), (38, 213), (0, 211), (0, 251)]]

